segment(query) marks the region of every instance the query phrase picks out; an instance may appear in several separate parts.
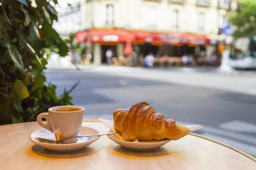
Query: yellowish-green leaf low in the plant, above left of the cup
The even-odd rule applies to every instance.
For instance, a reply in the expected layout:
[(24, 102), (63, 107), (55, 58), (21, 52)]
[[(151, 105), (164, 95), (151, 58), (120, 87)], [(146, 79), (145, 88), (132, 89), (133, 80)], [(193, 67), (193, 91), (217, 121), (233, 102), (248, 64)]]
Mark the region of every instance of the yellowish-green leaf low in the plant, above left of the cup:
[(15, 80), (10, 97), (15, 99), (20, 105), (22, 99), (29, 97), (29, 91), (21, 80)]

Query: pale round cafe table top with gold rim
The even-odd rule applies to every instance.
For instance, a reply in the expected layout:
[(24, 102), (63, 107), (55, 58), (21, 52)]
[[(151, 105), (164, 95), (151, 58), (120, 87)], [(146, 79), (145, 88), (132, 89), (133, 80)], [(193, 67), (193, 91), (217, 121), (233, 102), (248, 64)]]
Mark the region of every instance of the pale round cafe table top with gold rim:
[[(84, 121), (99, 133), (109, 129), (101, 122)], [(0, 170), (252, 170), (256, 159), (236, 148), (194, 133), (157, 150), (127, 150), (108, 138), (73, 153), (53, 153), (30, 142), (41, 127), (33, 123), (0, 126)]]

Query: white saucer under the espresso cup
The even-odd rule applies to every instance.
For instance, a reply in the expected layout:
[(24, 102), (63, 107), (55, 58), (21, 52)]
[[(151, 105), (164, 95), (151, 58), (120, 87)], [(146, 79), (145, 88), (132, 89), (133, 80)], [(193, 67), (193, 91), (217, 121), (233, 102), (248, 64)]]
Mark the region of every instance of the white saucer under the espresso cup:
[[(79, 131), (79, 135), (93, 135), (93, 134), (99, 134), (98, 130), (95, 130), (90, 127), (82, 126)], [(29, 135), (30, 141), (52, 152), (67, 153), (67, 152), (75, 152), (83, 149), (84, 147), (87, 147), (88, 145), (98, 140), (100, 136), (81, 137), (81, 138), (78, 138), (75, 143), (70, 143), (70, 144), (43, 143), (36, 140), (35, 139), (36, 137), (55, 140), (54, 134), (49, 130), (40, 129), (31, 133)]]

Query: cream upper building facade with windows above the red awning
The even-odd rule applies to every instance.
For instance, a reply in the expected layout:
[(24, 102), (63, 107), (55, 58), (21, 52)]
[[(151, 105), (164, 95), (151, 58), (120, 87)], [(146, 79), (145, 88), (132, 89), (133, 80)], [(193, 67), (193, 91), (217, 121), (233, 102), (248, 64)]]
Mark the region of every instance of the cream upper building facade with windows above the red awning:
[(87, 0), (85, 28), (175, 30), (215, 38), (236, 8), (236, 0)]

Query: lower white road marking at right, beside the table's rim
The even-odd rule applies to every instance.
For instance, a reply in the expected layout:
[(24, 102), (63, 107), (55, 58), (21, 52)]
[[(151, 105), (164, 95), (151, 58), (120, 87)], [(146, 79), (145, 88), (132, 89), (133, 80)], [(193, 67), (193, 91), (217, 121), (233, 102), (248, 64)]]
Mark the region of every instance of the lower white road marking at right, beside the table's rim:
[(236, 147), (252, 156), (256, 156), (256, 146), (250, 144), (244, 144), (242, 142), (234, 141), (232, 139), (225, 138), (223, 136), (214, 135), (211, 133), (202, 133), (201, 135), (207, 136), (209, 138), (215, 139), (217, 141), (223, 142), (225, 144), (229, 144), (230, 146)]

